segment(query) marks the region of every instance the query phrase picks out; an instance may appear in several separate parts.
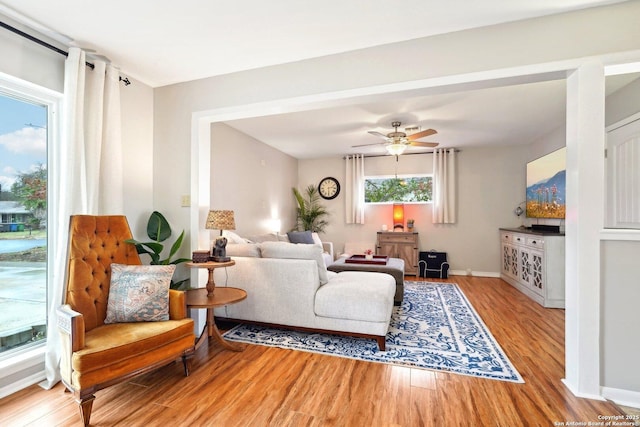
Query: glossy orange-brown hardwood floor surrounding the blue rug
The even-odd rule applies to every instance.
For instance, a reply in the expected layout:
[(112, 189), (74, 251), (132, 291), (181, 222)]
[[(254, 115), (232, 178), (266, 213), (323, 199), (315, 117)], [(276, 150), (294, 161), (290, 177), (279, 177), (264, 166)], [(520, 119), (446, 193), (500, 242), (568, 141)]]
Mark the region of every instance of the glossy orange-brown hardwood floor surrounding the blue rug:
[[(612, 403), (574, 397), (560, 381), (564, 310), (545, 309), (500, 279), (446, 281), (460, 285), (525, 384), (253, 345), (234, 353), (210, 343), (189, 377), (175, 363), (98, 392), (92, 425), (553, 426), (622, 414)], [(59, 384), (0, 400), (0, 425), (81, 422)]]

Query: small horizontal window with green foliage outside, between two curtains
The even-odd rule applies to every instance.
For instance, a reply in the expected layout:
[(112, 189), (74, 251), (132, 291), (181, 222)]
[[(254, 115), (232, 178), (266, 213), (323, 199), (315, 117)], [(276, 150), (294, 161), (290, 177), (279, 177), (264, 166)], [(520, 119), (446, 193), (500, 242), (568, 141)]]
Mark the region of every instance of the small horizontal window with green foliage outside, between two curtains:
[(367, 177), (364, 181), (365, 203), (430, 203), (432, 176)]

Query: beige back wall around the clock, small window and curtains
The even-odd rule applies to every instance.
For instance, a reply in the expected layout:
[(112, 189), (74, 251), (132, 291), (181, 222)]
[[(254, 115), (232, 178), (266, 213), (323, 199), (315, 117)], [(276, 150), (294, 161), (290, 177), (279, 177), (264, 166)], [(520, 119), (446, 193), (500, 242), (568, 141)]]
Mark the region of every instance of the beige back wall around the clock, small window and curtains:
[[(448, 253), (452, 270), (475, 275), (499, 275), (500, 227), (520, 226), (513, 210), (524, 196), (527, 147), (465, 149), (457, 153), (458, 222), (433, 224), (431, 204), (405, 204), (405, 220), (415, 219), (420, 233), (420, 250), (436, 249)], [(432, 173), (431, 154), (400, 156), (398, 175)], [(299, 187), (317, 185), (325, 176), (338, 179), (343, 187), (334, 200), (324, 202), (331, 213), (323, 239), (332, 241), (340, 253), (345, 242), (367, 243), (372, 248), (382, 224), (392, 226), (391, 205), (367, 205), (365, 224), (345, 223), (345, 165), (341, 158), (300, 160)], [(365, 175), (394, 175), (393, 156), (365, 159)]]

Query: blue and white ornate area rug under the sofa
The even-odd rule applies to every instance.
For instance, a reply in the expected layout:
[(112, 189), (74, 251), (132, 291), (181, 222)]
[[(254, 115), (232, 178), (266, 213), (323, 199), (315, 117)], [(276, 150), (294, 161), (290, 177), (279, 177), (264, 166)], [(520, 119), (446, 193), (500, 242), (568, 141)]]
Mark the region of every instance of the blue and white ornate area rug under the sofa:
[(369, 362), (524, 382), (455, 283), (406, 281), (402, 306), (394, 307), (391, 316), (387, 351), (379, 351), (373, 339), (255, 325), (238, 325), (224, 337)]

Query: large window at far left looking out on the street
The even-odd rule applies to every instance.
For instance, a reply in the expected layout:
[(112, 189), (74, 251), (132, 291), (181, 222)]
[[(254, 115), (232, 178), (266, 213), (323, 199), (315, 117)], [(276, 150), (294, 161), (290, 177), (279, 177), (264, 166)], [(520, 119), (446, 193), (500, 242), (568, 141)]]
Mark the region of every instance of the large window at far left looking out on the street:
[(0, 80), (0, 358), (46, 338), (49, 108)]

